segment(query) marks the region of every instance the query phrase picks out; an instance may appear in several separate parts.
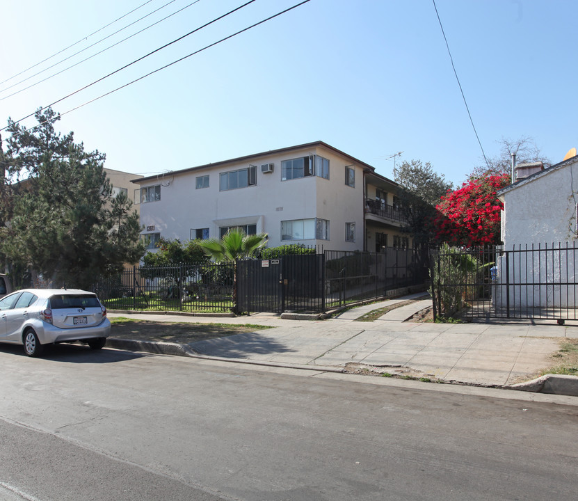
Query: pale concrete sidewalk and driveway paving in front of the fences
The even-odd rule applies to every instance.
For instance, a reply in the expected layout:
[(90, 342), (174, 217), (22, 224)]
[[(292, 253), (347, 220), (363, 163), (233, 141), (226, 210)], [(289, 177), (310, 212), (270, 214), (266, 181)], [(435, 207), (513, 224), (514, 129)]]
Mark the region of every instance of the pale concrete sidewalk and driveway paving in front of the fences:
[[(578, 338), (577, 326), (559, 326), (554, 321), (540, 325), (403, 321), (431, 305), (430, 299), (395, 308), (376, 321), (355, 320), (369, 311), (418, 296), (362, 305), (334, 319), (318, 321), (284, 320), (270, 314), (218, 319), (181, 315), (122, 316), (273, 327), (193, 342), (184, 347), (185, 351), (200, 356), (331, 370), (371, 366), (391, 374), (485, 386), (508, 386), (527, 381), (531, 374), (552, 365), (550, 356), (559, 350), (559, 338)], [(121, 315), (109, 313), (109, 316)], [(110, 340), (108, 345), (114, 347), (114, 343)], [(134, 348), (138, 349), (138, 345)], [(158, 349), (153, 351), (159, 352)], [(576, 381), (578, 383), (578, 378)]]

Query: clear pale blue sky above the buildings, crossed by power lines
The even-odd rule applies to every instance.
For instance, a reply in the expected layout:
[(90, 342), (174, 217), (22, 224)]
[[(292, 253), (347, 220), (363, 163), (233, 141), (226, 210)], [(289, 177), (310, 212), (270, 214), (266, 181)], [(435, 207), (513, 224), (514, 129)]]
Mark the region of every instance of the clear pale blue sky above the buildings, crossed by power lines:
[[(18, 120), (33, 113), (243, 3), (200, 0), (127, 42), (7, 97), (193, 0), (161, 8), (169, 1), (152, 0), (90, 35), (145, 0), (0, 0), (0, 81), (85, 39), (0, 84), (1, 127), (8, 116)], [(296, 3), (257, 0), (54, 109), (69, 111)], [(435, 4), (486, 156), (499, 154), (501, 138), (520, 136), (531, 136), (554, 163), (578, 147), (578, 2)], [(35, 124), (33, 119), (22, 123)], [(431, 162), (454, 183), (483, 163), (432, 0), (311, 0), (67, 113), (58, 129), (72, 130), (88, 150), (106, 153), (106, 167), (145, 175), (311, 141), (325, 141), (390, 178), (394, 163), (389, 157), (398, 152), (403, 152), (401, 160)]]

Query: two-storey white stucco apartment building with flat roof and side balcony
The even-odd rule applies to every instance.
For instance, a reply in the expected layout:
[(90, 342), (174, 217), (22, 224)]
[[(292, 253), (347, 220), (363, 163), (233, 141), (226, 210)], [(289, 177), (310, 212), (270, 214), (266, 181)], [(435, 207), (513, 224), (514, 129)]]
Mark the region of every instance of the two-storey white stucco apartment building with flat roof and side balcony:
[(234, 227), (267, 233), (269, 247), (375, 251), (411, 245), (394, 205), (399, 186), (321, 141), (133, 182), (140, 186), (135, 202), (151, 248), (161, 237), (220, 238)]

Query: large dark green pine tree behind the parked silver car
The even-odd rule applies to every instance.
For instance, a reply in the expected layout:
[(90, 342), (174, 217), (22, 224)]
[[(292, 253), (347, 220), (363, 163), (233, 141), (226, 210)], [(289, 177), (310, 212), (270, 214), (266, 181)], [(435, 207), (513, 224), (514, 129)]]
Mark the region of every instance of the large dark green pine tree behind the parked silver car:
[(0, 252), (55, 285), (89, 288), (143, 256), (138, 214), (125, 194), (112, 196), (104, 154), (56, 134), (51, 109), (35, 118), (30, 130), (8, 120)]

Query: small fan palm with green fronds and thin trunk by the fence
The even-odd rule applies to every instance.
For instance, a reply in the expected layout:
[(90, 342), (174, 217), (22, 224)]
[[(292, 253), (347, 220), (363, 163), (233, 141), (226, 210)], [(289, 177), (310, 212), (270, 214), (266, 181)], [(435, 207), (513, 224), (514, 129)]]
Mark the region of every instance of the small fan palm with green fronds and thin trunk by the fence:
[(267, 243), (267, 234), (258, 233), (246, 235), (245, 232), (234, 228), (229, 230), (223, 238), (207, 239), (200, 242), (204, 252), (209, 255), (215, 262), (231, 262), (234, 264), (233, 275), (233, 312), (237, 311), (237, 282), (236, 282), (236, 263), (243, 257), (250, 257), (255, 250), (262, 248)]

